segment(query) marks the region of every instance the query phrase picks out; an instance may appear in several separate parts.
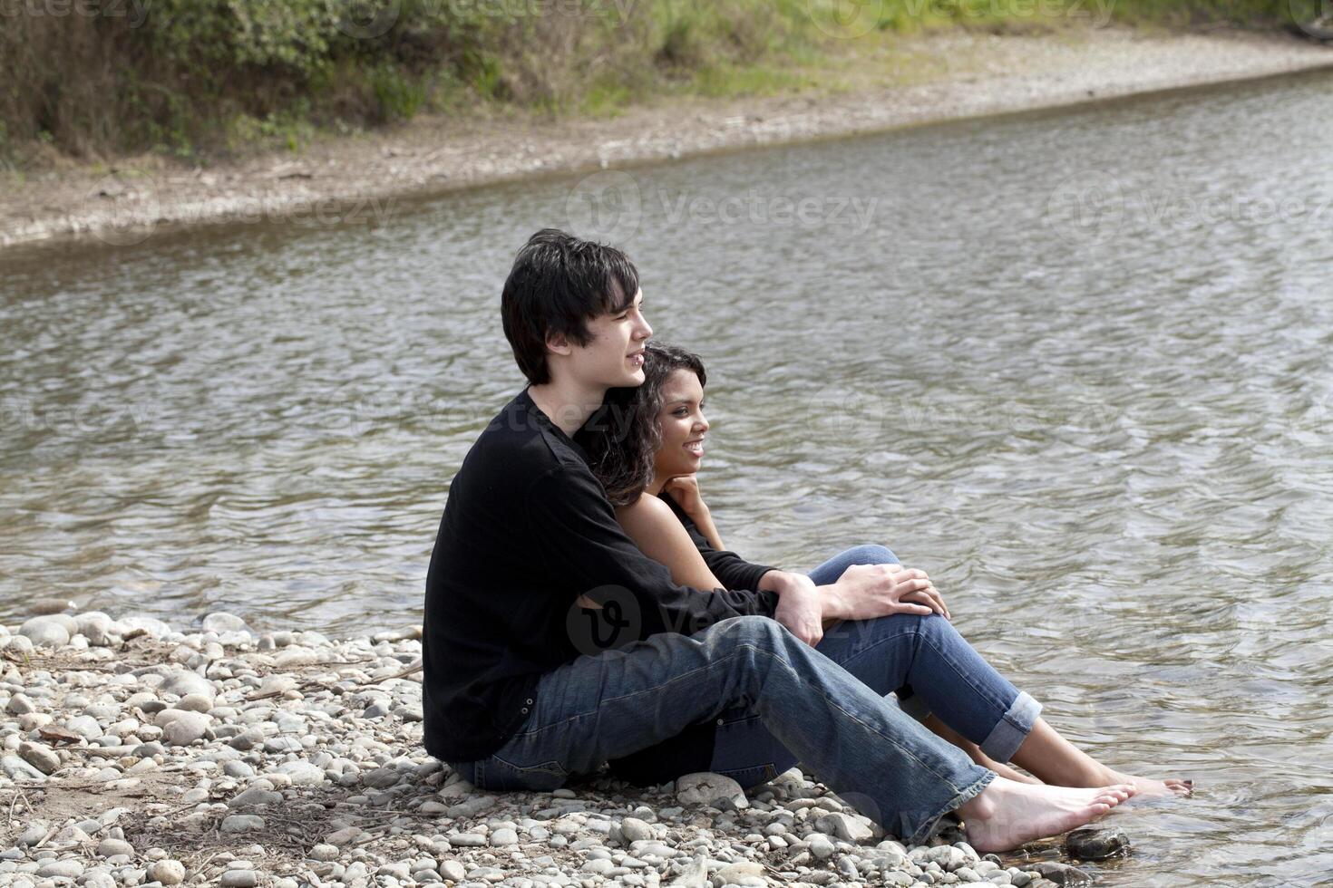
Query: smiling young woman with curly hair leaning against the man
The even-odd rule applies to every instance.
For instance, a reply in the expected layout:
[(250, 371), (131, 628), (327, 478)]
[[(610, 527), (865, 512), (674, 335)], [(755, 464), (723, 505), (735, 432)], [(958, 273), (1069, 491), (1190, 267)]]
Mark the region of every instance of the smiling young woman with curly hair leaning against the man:
[[(641, 386), (608, 393), (603, 413), (580, 433), (592, 470), (616, 506), (617, 519), (644, 554), (670, 568), (678, 584), (728, 588), (714, 567), (733, 578), (761, 574), (762, 567), (725, 551), (698, 491), (697, 473), (709, 429), (704, 418), (702, 361), (685, 349), (648, 342), (644, 374)], [(892, 551), (872, 545), (844, 551), (809, 576), (816, 586), (832, 584), (854, 564), (909, 570), (898, 564)], [(1010, 780), (1060, 787), (1132, 784), (1140, 793), (1152, 795), (1189, 792), (1189, 781), (1125, 775), (1065, 740), (1036, 716), (1040, 704), (996, 674), (953, 630), (944, 599), (925, 572), (912, 572), (925, 583), (920, 591), (902, 596), (900, 612), (846, 624), (825, 620), (825, 634), (816, 650), (881, 695), (896, 691), (904, 710), (960, 746), (978, 764)], [(873, 639), (872, 623), (877, 626)], [(930, 654), (920, 652), (922, 638)], [(742, 785), (762, 783), (796, 764), (753, 718), (720, 719), (716, 728), (700, 727), (712, 735), (704, 738), (713, 747), (706, 770), (734, 776)], [(700, 739), (698, 734), (681, 735), (680, 746), (697, 747)], [(635, 767), (625, 768), (623, 775), (652, 775), (637, 783), (678, 776), (670, 774), (676, 752), (672, 747), (673, 742), (666, 742), (636, 754)], [(1028, 774), (993, 760), (988, 751), (997, 750), (1012, 752), (1010, 760)], [(1009, 756), (1001, 754), (1001, 758)], [(696, 758), (690, 770), (705, 770), (698, 762)], [(641, 763), (651, 763), (647, 771)], [(617, 771), (616, 762), (612, 770)]]

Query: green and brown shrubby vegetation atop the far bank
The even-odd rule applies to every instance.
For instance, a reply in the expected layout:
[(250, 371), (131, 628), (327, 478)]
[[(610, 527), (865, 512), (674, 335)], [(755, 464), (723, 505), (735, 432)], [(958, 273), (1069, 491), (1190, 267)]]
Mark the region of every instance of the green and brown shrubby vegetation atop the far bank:
[[(613, 113), (664, 89), (797, 88), (793, 64), (848, 45), (816, 20), (836, 3), (849, 0), (152, 0), (59, 17), (20, 3), (0, 17), (0, 152), (47, 138), (72, 154), (197, 160), (479, 101)], [(1017, 20), (990, 0), (870, 5), (872, 31)], [(1113, 11), (1130, 23), (1294, 29), (1293, 11), (1313, 20), (1320, 5), (1116, 0)]]

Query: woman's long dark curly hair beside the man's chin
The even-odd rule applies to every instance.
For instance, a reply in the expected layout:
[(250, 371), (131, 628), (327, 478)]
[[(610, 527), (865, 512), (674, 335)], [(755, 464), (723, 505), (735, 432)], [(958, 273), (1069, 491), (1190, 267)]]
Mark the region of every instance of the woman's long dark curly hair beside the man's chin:
[(592, 474), (616, 507), (639, 499), (653, 479), (655, 458), (663, 443), (657, 415), (666, 379), (676, 370), (692, 370), (700, 386), (708, 385), (704, 362), (693, 351), (659, 342), (648, 342), (644, 349), (644, 383), (607, 391), (601, 409), (576, 438), (588, 453)]

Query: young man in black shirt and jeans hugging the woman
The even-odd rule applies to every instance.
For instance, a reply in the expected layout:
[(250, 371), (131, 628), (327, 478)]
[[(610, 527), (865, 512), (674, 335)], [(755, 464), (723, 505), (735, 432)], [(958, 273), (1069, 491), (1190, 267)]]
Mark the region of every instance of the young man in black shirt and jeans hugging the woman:
[[(801, 640), (822, 619), (913, 607), (905, 599), (929, 586), (916, 571), (858, 564), (816, 587), (718, 553), (714, 572), (748, 574), (753, 588), (705, 592), (676, 586), (640, 553), (575, 441), (608, 389), (644, 379), (652, 328), (621, 252), (537, 232), (505, 281), (501, 314), (531, 385), (464, 459), (431, 558), (432, 755), (485, 789), (549, 791), (738, 710), (885, 829), (922, 841), (957, 811), (978, 851), (1064, 832), (1133, 793), (997, 777), (888, 702), (892, 687), (877, 692)], [(941, 686), (956, 683), (948, 668), (938, 666)], [(913, 687), (933, 675), (917, 678)], [(1013, 722), (1013, 695), (994, 711), (997, 731)]]

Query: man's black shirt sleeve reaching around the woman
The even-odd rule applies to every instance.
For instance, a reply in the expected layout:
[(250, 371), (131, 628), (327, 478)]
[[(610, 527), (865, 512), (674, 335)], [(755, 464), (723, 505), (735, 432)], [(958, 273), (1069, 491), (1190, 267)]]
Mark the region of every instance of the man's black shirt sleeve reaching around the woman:
[[(732, 616), (772, 616), (777, 610), (777, 594), (772, 591), (732, 588), (705, 594), (673, 583), (670, 571), (625, 535), (601, 486), (585, 467), (547, 471), (529, 486), (527, 499), (531, 538), (540, 541), (540, 556), (549, 570), (559, 571), (599, 604), (628, 595), (637, 611), (628, 616), (641, 620), (643, 638), (663, 631), (689, 635)], [(621, 610), (628, 603), (617, 600)]]

